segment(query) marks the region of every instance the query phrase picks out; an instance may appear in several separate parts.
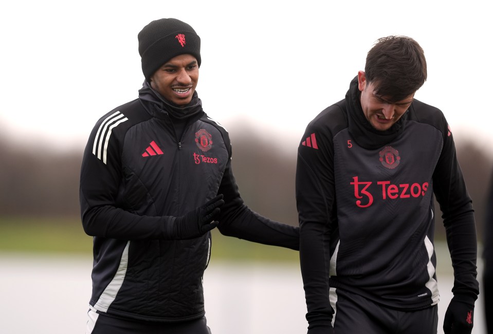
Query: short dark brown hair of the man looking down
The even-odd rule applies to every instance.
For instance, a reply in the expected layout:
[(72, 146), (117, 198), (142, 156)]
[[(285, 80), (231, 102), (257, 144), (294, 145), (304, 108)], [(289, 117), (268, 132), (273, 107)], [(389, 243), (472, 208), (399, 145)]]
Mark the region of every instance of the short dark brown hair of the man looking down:
[(374, 83), (376, 95), (398, 102), (425, 83), (425, 53), (407, 36), (380, 38), (368, 52), (364, 72), (367, 81)]

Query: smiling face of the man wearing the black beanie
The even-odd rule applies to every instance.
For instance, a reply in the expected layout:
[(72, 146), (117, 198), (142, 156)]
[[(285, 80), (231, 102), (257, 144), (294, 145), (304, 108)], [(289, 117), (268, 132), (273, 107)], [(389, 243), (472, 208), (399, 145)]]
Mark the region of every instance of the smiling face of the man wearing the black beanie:
[(151, 87), (166, 100), (185, 106), (192, 100), (198, 82), (197, 60), (180, 54), (163, 64), (150, 78)]

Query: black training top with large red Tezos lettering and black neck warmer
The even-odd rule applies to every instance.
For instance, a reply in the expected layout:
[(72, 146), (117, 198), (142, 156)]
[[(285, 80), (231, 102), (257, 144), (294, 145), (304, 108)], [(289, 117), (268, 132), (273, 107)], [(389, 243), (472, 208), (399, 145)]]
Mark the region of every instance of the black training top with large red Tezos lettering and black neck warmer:
[(308, 124), (298, 149), (309, 328), (330, 325), (330, 289), (398, 310), (439, 301), (434, 196), (452, 257), (453, 293), (473, 304), (476, 227), (444, 115), (414, 100), (388, 131), (377, 131), (363, 115), (355, 78), (344, 100)]

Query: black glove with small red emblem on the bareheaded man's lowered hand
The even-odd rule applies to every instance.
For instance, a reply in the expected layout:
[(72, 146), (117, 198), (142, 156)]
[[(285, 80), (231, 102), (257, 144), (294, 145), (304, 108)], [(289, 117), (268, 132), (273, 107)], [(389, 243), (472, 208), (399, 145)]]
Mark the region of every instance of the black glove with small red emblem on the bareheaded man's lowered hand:
[(474, 305), (458, 301), (455, 296), (450, 301), (443, 321), (445, 334), (470, 334), (472, 331), (472, 319), (474, 317)]

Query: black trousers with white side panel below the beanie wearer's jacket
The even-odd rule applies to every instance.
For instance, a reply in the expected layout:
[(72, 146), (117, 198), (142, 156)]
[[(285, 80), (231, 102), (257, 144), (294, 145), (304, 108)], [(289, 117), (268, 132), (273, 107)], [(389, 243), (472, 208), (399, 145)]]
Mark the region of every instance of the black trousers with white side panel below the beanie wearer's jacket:
[(206, 318), (158, 323), (123, 320), (89, 310), (86, 334), (211, 334)]

